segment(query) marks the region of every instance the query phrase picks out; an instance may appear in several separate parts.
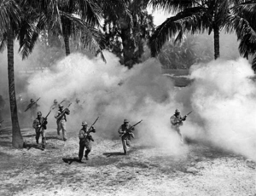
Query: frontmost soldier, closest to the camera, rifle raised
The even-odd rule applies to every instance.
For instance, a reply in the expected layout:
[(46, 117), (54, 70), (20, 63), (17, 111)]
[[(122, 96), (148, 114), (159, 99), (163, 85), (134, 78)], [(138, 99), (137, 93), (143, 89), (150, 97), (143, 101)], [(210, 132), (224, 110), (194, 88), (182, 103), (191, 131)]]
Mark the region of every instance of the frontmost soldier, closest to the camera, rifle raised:
[[(89, 160), (88, 154), (91, 151), (91, 143), (90, 141), (94, 141), (90, 132), (96, 132), (93, 126), (88, 130), (87, 123), (85, 121), (82, 122), (82, 129), (79, 131), (79, 161), (82, 161), (83, 154), (86, 160)], [(84, 147), (86, 148), (84, 153)]]

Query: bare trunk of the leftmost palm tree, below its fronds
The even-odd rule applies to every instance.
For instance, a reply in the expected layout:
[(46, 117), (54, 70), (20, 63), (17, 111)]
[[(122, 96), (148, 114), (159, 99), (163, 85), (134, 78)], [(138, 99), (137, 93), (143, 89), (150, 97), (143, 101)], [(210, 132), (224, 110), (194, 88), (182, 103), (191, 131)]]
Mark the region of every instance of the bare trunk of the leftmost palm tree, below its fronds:
[(9, 79), (9, 106), (12, 118), (12, 144), (13, 147), (21, 148), (23, 147), (23, 138), (20, 133), (20, 125), (17, 113), (17, 103), (15, 95), (15, 68), (14, 68), (14, 37), (13, 32), (9, 32), (8, 35), (8, 79)]

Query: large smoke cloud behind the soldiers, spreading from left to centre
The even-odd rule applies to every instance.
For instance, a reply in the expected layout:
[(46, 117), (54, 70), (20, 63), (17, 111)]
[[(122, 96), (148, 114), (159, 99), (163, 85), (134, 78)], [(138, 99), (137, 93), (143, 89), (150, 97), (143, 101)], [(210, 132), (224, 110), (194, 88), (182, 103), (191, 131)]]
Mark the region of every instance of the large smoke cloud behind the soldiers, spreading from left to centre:
[[(71, 114), (67, 116), (67, 132), (77, 137), (81, 122), (96, 123), (98, 135), (119, 138), (118, 129), (124, 118), (138, 124), (135, 130), (142, 144), (172, 147), (172, 152), (186, 151), (179, 147), (177, 133), (171, 130), (170, 117), (182, 103), (174, 100), (177, 89), (172, 81), (161, 75), (160, 63), (149, 59), (128, 70), (120, 66), (119, 59), (108, 52), (102, 59), (89, 59), (73, 54), (59, 61), (54, 69), (34, 74), (28, 81), (28, 93), (41, 97), (40, 110), (44, 116), (54, 99), (68, 101)], [(79, 99), (79, 104), (76, 103)], [(56, 127), (55, 118), (49, 124)], [(186, 147), (184, 147), (186, 148)]]

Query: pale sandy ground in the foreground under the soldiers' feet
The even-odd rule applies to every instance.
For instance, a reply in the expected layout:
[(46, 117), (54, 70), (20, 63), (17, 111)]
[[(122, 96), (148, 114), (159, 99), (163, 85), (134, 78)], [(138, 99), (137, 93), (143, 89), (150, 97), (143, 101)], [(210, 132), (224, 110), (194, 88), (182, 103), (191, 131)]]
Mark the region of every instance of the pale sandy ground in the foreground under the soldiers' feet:
[(133, 140), (123, 155), (119, 140), (94, 135), (90, 160), (77, 162), (78, 135), (64, 142), (47, 130), (47, 147), (35, 143), (34, 130), (23, 129), (27, 145), (11, 147), (9, 128), (0, 131), (0, 195), (256, 195), (255, 164), (240, 155), (200, 143), (189, 153)]

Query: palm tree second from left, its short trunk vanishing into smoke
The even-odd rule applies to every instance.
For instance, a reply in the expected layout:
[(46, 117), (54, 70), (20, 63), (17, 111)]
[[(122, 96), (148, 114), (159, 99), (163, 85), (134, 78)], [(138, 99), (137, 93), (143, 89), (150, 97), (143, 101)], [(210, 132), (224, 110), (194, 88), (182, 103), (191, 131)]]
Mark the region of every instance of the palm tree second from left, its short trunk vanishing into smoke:
[(84, 48), (101, 50), (99, 40), (102, 39), (102, 33), (95, 28), (100, 24), (102, 12), (98, 3), (90, 0), (41, 0), (34, 7), (40, 10), (38, 29), (47, 29), (61, 35), (64, 38), (66, 55), (70, 54), (71, 37), (79, 40)]

